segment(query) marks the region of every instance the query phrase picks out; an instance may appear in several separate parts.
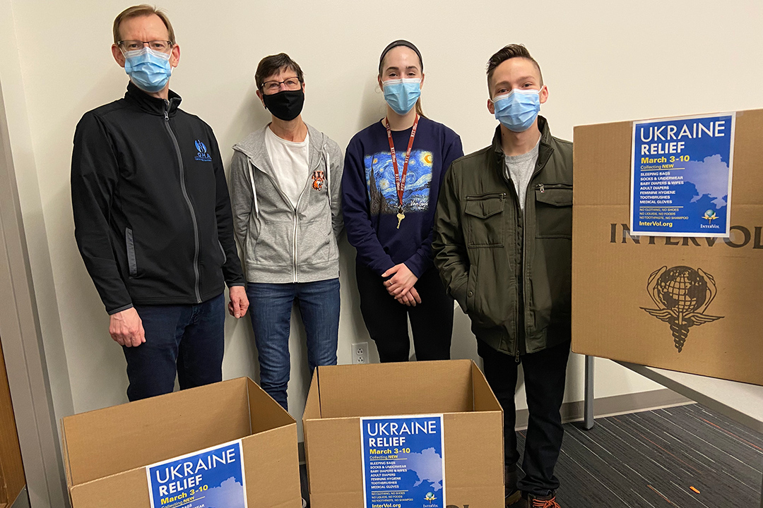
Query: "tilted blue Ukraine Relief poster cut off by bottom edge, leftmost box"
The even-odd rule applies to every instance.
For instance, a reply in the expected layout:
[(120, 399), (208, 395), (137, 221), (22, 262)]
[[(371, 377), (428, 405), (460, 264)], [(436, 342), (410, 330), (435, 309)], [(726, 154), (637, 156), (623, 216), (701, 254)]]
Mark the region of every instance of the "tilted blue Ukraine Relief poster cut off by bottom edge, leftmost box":
[(241, 440), (146, 466), (152, 508), (246, 508)]

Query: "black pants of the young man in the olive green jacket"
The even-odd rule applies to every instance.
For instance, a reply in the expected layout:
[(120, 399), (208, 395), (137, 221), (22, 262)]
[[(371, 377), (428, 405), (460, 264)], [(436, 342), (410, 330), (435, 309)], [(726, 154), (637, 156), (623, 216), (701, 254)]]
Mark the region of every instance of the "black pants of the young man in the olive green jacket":
[[(514, 392), (517, 389), (519, 363), (513, 356), (500, 353), (479, 339), (477, 352), (485, 361), (485, 378), (504, 408), (504, 457), (507, 468), (510, 468), (520, 458), (514, 430), (517, 421)], [(522, 462), (525, 476), (517, 486), (523, 492), (536, 496), (549, 495), (559, 488), (554, 467), (564, 436), (559, 409), (565, 395), (569, 354), (570, 343), (565, 342), (538, 353), (520, 356), (530, 420)]]

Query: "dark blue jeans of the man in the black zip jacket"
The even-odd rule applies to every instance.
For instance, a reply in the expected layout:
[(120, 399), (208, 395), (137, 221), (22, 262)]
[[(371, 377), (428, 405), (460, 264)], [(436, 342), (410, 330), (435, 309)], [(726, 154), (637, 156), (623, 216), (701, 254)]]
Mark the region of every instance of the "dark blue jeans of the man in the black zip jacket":
[(122, 347), (127, 359), (127, 398), (170, 393), (175, 374), (181, 390), (223, 380), (224, 293), (197, 305), (135, 305), (146, 342)]

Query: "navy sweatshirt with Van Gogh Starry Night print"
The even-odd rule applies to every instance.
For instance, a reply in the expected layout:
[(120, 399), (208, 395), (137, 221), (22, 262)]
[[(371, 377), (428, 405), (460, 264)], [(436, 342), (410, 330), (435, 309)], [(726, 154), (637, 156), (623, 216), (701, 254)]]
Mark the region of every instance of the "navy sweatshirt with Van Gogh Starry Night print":
[[(411, 129), (393, 131), (402, 176)], [(399, 201), (394, 184), (387, 129), (366, 127), (347, 145), (342, 177), (342, 209), (356, 261), (379, 276), (405, 263), (420, 277), (432, 266), (432, 227), (440, 184), (452, 161), (462, 157), (458, 134), (420, 117), (403, 193), (405, 219), (398, 229)]]

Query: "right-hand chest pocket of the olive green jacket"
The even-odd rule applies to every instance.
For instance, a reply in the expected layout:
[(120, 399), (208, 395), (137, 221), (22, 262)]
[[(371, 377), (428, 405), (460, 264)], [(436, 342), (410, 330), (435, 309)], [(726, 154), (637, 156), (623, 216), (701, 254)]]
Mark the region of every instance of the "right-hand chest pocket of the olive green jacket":
[(536, 238), (572, 238), (572, 186), (535, 187)]

